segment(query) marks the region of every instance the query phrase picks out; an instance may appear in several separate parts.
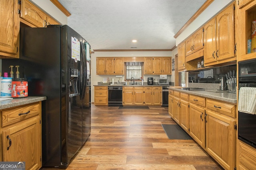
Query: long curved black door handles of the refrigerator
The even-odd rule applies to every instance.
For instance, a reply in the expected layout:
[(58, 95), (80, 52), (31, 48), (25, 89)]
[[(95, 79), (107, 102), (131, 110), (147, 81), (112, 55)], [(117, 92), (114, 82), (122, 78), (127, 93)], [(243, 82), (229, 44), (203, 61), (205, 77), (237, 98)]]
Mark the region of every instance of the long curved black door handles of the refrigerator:
[(85, 89), (86, 89), (86, 51), (85, 51), (85, 46), (84, 46), (84, 42), (80, 43), (81, 44), (81, 47), (82, 47), (82, 59), (81, 59), (81, 70), (82, 70), (82, 84), (81, 84), (81, 89), (82, 89), (82, 93), (81, 93), (81, 96), (80, 98), (81, 99), (84, 99), (84, 96), (85, 96)]

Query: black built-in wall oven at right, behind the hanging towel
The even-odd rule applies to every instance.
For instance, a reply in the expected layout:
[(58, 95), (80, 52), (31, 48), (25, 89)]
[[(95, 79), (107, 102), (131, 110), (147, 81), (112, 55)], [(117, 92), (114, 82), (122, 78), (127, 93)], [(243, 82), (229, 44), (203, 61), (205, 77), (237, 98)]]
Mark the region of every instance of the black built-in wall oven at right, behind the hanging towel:
[[(238, 89), (241, 87), (256, 87), (256, 59), (238, 62)], [(238, 111), (238, 139), (256, 148), (255, 129), (256, 115)]]

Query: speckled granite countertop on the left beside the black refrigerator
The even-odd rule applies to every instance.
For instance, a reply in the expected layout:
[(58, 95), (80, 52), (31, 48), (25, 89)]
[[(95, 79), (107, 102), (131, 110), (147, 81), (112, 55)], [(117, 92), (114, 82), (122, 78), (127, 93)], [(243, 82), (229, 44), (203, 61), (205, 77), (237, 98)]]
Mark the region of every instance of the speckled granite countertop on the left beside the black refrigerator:
[(36, 97), (36, 96), (29, 96), (24, 98), (14, 98), (9, 100), (0, 101), (0, 109), (7, 109), (10, 107), (26, 105), (29, 103), (34, 103), (38, 101), (46, 100), (46, 97)]

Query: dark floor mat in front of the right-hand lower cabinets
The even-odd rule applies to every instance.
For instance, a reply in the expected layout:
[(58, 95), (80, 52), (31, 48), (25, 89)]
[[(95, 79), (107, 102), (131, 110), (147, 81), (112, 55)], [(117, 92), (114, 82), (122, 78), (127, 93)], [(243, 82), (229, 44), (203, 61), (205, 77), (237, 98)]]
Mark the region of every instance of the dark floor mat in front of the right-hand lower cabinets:
[(162, 124), (162, 127), (169, 139), (192, 139), (180, 125)]

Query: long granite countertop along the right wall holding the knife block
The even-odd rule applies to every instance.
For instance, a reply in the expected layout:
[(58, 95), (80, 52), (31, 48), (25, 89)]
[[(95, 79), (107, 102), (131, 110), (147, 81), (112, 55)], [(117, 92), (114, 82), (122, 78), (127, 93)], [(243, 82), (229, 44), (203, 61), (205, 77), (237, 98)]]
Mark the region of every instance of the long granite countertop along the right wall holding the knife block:
[(182, 87), (168, 87), (168, 89), (188, 93), (191, 95), (197, 95), (201, 97), (207, 97), (209, 99), (216, 99), (220, 101), (226, 101), (233, 104), (236, 104), (236, 93), (229, 93), (229, 92), (212, 92), (210, 90), (204, 90), (204, 91), (188, 91), (188, 90), (182, 90)]

